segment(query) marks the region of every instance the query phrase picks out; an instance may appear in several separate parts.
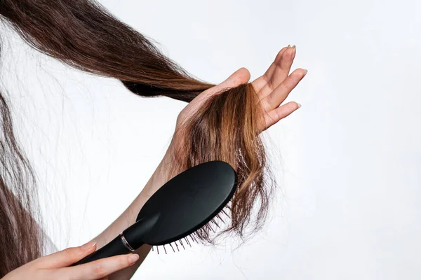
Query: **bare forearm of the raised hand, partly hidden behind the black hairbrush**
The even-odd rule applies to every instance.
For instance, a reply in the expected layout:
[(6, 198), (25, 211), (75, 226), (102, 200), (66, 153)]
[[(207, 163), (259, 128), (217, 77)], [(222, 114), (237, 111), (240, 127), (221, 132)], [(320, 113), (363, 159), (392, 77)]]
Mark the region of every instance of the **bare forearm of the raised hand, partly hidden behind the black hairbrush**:
[[(168, 148), (166, 155), (163, 157), (163, 159), (159, 163), (159, 166), (156, 168), (154, 174), (152, 174), (151, 178), (146, 183), (145, 187), (142, 189), (138, 197), (136, 197), (135, 200), (133, 200), (130, 206), (126, 209), (126, 211), (123, 212), (123, 214), (119, 216), (119, 218), (116, 218), (116, 220), (111, 225), (109, 225), (108, 228), (106, 228), (103, 232), (101, 232), (100, 235), (93, 239), (97, 242), (97, 248), (105, 246), (105, 244), (107, 244), (109, 241), (111, 241), (117, 235), (119, 235), (120, 232), (122, 232), (129, 226), (133, 225), (133, 223), (135, 223), (140, 209), (147, 202), (149, 197), (151, 197), (156, 192), (156, 190), (161, 188), (161, 186), (163, 186), (163, 184), (166, 183), (167, 169), (168, 164), (170, 162), (171, 148)], [(120, 272), (116, 272), (110, 275), (109, 279), (131, 279), (131, 276), (133, 276), (133, 274), (135, 273), (136, 269), (138, 269), (142, 261), (145, 260), (151, 248), (152, 247), (148, 245), (144, 245), (138, 248), (138, 250), (135, 251), (135, 253), (138, 253), (140, 257), (138, 262), (136, 262), (135, 265), (128, 267), (127, 269), (123, 269)]]

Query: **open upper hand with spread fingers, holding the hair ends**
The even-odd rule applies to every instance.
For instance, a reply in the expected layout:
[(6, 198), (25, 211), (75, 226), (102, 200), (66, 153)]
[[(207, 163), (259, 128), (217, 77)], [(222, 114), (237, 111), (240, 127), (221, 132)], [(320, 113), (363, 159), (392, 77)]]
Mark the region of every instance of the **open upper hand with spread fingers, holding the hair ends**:
[[(307, 70), (298, 68), (288, 76), (295, 58), (295, 52), (295, 46), (288, 46), (280, 50), (266, 73), (252, 82), (255, 92), (260, 97), (262, 110), (265, 111), (265, 114), (263, 114), (265, 116), (265, 121), (263, 122), (265, 125), (261, 128), (262, 131), (267, 130), (267, 128), (300, 108), (300, 105), (296, 102), (288, 102), (280, 106), (307, 73)], [(241, 68), (224, 82), (205, 90), (180, 112), (177, 125), (183, 123), (190, 114), (194, 114), (208, 97), (227, 87), (236, 87), (243, 83), (248, 83), (248, 80), (250, 80), (250, 72), (245, 68)]]

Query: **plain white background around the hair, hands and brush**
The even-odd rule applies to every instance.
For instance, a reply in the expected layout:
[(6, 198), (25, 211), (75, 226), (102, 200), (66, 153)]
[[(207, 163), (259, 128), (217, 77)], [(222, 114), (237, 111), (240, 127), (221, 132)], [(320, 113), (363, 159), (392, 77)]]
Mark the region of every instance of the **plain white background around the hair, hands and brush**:
[[(102, 3), (194, 76), (260, 76), (283, 46), (307, 76), (272, 127), (279, 181), (249, 244), (150, 253), (134, 279), (420, 279), (420, 1)], [(142, 99), (2, 31), (1, 80), (62, 249), (102, 231), (142, 190), (185, 106)], [(276, 158), (281, 155), (281, 163)]]

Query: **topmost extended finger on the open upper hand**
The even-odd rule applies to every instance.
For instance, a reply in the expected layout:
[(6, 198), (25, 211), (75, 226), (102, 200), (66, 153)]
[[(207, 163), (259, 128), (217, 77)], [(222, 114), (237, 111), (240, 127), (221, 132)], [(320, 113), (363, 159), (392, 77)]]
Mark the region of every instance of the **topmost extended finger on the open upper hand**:
[(260, 97), (266, 97), (286, 79), (293, 64), (295, 53), (295, 45), (292, 48), (286, 47), (280, 50), (266, 73), (253, 82), (253, 86)]

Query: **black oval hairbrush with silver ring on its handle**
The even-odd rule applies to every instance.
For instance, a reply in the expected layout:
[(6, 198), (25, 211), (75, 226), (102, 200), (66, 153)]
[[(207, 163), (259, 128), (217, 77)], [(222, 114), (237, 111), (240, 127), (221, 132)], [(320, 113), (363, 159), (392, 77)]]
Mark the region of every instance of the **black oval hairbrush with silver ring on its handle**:
[(236, 173), (226, 162), (205, 162), (187, 169), (149, 197), (136, 223), (74, 265), (131, 253), (143, 244), (159, 246), (187, 237), (223, 211), (236, 186)]

